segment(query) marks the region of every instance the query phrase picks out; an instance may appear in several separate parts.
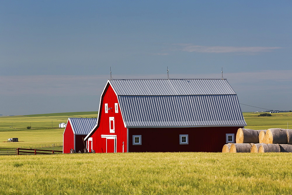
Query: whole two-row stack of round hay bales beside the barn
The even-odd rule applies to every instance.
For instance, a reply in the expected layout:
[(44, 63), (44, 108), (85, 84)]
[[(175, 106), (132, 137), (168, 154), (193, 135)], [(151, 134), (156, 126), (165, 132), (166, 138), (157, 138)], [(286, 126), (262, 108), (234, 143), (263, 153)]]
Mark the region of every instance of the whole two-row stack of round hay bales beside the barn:
[(292, 129), (239, 128), (236, 133), (236, 144), (225, 144), (222, 152), (292, 152)]

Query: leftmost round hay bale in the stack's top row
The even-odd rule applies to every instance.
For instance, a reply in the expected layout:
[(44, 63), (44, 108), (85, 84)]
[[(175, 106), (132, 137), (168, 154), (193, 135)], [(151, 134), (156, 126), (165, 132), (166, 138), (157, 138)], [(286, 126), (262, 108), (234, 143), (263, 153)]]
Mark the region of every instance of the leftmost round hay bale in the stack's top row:
[(236, 133), (236, 143), (258, 143), (258, 131), (239, 128)]

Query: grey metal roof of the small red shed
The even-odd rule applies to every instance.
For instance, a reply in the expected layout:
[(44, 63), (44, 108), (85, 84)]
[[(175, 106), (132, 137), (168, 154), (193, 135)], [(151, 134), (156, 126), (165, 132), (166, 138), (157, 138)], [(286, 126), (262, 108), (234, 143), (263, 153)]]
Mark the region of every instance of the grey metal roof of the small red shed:
[(69, 118), (74, 134), (87, 135), (97, 123), (97, 119)]

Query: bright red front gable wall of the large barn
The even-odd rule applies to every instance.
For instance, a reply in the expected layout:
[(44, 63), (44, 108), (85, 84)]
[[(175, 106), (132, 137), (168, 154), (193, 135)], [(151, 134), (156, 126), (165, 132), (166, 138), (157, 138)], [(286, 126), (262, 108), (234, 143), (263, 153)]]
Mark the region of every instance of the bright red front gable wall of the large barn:
[[(117, 152), (123, 152), (123, 142), (124, 151), (127, 151), (127, 128), (124, 126), (124, 122), (121, 115), (120, 106), (118, 106), (118, 113), (115, 113), (114, 104), (118, 103), (117, 95), (110, 85), (107, 86), (105, 90), (102, 101), (100, 102), (100, 124), (98, 129), (91, 136), (93, 139), (93, 149), (97, 153), (113, 152), (114, 149), (114, 139), (107, 140), (107, 138), (102, 138), (101, 135), (117, 135)], [(108, 104), (108, 113), (105, 113), (105, 103)], [(114, 133), (109, 133), (109, 117), (114, 117)], [(108, 150), (107, 150), (108, 144)], [(111, 147), (112, 146), (112, 147)]]

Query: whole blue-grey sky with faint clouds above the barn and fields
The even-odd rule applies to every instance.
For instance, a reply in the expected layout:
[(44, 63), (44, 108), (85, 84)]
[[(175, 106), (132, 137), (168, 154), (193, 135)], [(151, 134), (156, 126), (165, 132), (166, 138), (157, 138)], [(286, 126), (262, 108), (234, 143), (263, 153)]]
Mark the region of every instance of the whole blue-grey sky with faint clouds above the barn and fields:
[[(97, 111), (109, 79), (221, 78), (292, 109), (291, 1), (1, 1), (0, 114)], [(243, 111), (260, 111), (242, 105)]]

